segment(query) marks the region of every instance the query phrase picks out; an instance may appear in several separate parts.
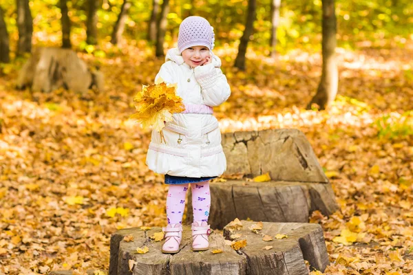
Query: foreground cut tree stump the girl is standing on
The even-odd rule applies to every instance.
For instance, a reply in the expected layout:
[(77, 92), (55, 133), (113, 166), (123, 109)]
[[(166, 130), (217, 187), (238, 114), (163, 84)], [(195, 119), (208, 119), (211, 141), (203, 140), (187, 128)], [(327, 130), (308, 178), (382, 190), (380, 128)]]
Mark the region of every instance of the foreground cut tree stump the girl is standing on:
[[(311, 223), (264, 223), (263, 234), (287, 234), (287, 239), (262, 241), (262, 235), (248, 229), (251, 221), (242, 221), (240, 239), (246, 239), (247, 245), (235, 251), (224, 242), (224, 236), (213, 232), (209, 236), (210, 249), (205, 252), (191, 250), (191, 228), (184, 225), (181, 250), (177, 254), (162, 254), (162, 241), (155, 242), (149, 236), (160, 232), (161, 228), (143, 231), (138, 228), (119, 230), (114, 233), (110, 243), (109, 275), (266, 275), (266, 274), (308, 274), (304, 260), (317, 270), (324, 271), (328, 265), (328, 254), (321, 227)], [(127, 235), (134, 236), (134, 241), (123, 241)], [(229, 230), (224, 230), (229, 238)], [(149, 248), (146, 254), (137, 254), (136, 248)], [(271, 250), (263, 250), (272, 245)], [(222, 253), (213, 254), (220, 249)], [(129, 271), (129, 260), (134, 265)]]

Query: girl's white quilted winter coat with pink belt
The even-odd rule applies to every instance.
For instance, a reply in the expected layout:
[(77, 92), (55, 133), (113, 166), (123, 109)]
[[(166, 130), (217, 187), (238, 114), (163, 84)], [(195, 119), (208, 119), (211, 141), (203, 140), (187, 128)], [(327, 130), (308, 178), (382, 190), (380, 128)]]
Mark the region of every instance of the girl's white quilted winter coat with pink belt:
[[(191, 69), (178, 49), (173, 48), (168, 51), (156, 79), (161, 77), (166, 83), (177, 83), (177, 94), (184, 104), (218, 106), (229, 98), (231, 89), (220, 69), (220, 58), (213, 54), (212, 57), (210, 64)], [(153, 172), (213, 177), (226, 170), (220, 128), (213, 115), (174, 113), (173, 120), (167, 122), (162, 132), (166, 143), (161, 143), (160, 133), (153, 130), (149, 144), (146, 164)]]

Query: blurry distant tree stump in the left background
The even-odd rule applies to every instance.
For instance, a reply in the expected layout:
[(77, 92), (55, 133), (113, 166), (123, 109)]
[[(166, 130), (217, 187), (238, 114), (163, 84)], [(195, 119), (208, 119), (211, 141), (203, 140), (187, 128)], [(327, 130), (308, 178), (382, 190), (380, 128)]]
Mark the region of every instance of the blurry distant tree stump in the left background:
[(23, 65), (17, 88), (50, 92), (60, 87), (85, 93), (96, 87), (103, 91), (103, 74), (90, 71), (76, 52), (58, 47), (39, 47)]

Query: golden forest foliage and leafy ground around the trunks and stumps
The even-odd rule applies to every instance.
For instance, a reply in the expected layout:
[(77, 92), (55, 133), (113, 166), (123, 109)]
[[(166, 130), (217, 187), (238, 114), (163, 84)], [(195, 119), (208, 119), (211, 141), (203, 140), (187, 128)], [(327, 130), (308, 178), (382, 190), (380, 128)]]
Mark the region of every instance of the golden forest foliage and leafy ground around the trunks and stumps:
[[(10, 62), (0, 63), (0, 274), (107, 270), (110, 234), (165, 225), (167, 186), (145, 166), (149, 131), (128, 120), (164, 59), (148, 40), (153, 2), (130, 3), (114, 45), (122, 1), (67, 1), (72, 49), (105, 75), (104, 91), (86, 93), (15, 89), (30, 54), (17, 54), (15, 1), (0, 3), (10, 38)], [(32, 48), (60, 47), (60, 1), (28, 4)], [(244, 71), (233, 61), (248, 1), (171, 0), (162, 47), (176, 45), (185, 17), (207, 18), (232, 90), (214, 109), (222, 131), (306, 134), (340, 206), (310, 219), (324, 229), (326, 274), (413, 274), (412, 1), (335, 2), (339, 90), (324, 111), (306, 110), (321, 76), (321, 1), (281, 2), (275, 56), (271, 1), (256, 5)]]

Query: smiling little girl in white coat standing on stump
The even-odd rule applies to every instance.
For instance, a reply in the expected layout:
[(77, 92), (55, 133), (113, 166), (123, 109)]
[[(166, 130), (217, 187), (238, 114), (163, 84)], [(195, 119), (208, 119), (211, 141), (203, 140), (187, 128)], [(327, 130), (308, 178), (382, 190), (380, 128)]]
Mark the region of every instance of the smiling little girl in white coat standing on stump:
[(212, 107), (231, 94), (220, 69), (220, 58), (212, 52), (213, 46), (213, 28), (209, 22), (202, 17), (187, 17), (180, 24), (178, 48), (167, 52), (166, 62), (156, 75), (156, 80), (160, 77), (166, 83), (177, 83), (177, 94), (185, 105), (185, 111), (174, 113), (173, 120), (165, 124), (162, 139), (158, 131), (152, 131), (146, 160), (149, 169), (165, 175), (165, 184), (169, 184), (164, 253), (179, 251), (189, 184), (193, 205), (192, 248), (193, 251), (209, 248), (209, 180), (226, 170), (221, 133)]

